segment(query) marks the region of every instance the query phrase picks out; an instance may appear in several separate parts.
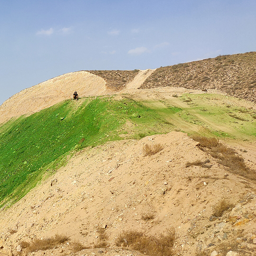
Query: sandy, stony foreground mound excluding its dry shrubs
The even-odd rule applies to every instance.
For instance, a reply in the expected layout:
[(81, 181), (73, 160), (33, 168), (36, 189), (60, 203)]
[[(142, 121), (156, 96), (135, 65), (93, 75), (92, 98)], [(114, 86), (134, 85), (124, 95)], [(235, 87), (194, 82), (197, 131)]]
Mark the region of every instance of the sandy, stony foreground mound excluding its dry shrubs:
[[(143, 145), (158, 143), (163, 150), (143, 155)], [(140, 141), (109, 142), (77, 153), (66, 167), (0, 212), (0, 254), (16, 255), (20, 241), (59, 233), (91, 247), (78, 255), (135, 256), (140, 254), (115, 245), (122, 230), (156, 234), (173, 226), (176, 255), (211, 255), (226, 249), (253, 255), (255, 183), (229, 173), (197, 145), (187, 134), (171, 132)], [(242, 149), (245, 162), (255, 168), (255, 151)], [(185, 167), (187, 161), (195, 160), (205, 165)], [(210, 221), (211, 207), (224, 198), (234, 205)], [(147, 220), (145, 214), (151, 218)], [(100, 251), (93, 248), (102, 242), (99, 229), (109, 236)], [(69, 246), (67, 242), (33, 255), (68, 254)], [(196, 250), (206, 253), (196, 254)]]

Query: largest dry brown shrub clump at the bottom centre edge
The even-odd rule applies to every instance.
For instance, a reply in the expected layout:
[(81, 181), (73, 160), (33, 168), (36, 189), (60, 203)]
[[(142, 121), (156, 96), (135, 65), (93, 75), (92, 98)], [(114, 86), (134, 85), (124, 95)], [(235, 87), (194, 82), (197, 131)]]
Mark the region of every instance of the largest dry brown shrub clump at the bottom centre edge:
[(173, 244), (175, 240), (175, 231), (171, 227), (167, 229), (166, 234), (158, 236), (146, 236), (142, 232), (129, 230), (123, 231), (116, 240), (116, 245), (125, 244), (131, 246), (133, 250), (152, 256), (170, 256), (173, 255)]

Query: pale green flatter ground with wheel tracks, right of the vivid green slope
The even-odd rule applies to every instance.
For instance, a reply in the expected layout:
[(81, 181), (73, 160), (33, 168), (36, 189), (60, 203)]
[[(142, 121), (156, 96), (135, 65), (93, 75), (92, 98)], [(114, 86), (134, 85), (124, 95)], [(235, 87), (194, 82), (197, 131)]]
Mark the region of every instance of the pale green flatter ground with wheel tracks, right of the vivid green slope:
[(188, 134), (255, 140), (253, 103), (218, 94), (183, 94), (165, 100), (145, 100), (148, 108)]

